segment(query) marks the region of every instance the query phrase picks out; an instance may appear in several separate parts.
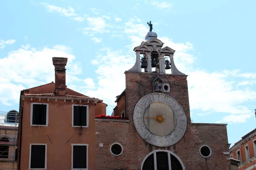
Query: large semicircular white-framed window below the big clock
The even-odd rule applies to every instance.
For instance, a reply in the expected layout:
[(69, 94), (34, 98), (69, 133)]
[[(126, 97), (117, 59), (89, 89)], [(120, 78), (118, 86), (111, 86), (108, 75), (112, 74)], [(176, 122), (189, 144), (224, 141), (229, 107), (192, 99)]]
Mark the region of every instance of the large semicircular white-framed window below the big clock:
[(182, 161), (169, 150), (154, 150), (143, 160), (142, 170), (184, 170)]

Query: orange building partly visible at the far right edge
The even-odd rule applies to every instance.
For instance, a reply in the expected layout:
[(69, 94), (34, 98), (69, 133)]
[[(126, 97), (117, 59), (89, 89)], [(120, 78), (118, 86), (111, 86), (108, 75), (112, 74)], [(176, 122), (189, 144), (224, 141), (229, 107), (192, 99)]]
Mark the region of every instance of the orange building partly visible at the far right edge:
[(239, 170), (256, 170), (256, 129), (230, 147), (230, 158), (240, 161)]

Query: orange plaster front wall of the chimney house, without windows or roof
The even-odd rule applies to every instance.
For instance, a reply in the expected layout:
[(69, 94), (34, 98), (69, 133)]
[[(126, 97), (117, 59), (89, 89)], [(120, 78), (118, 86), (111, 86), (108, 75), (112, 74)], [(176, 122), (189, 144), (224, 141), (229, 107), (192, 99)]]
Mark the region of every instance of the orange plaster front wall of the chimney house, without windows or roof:
[[(29, 144), (47, 144), (47, 170), (71, 169), (71, 144), (89, 144), (88, 168), (95, 169), (95, 114), (93, 102), (26, 99), (23, 101), (20, 170), (29, 168)], [(49, 126), (30, 126), (31, 103), (49, 103)], [(72, 105), (89, 105), (89, 127), (72, 127)], [(51, 140), (51, 142), (48, 139)], [(71, 138), (72, 137), (72, 138)], [(71, 138), (71, 139), (70, 139)], [(69, 142), (67, 142), (70, 139)], [(66, 144), (67, 143), (67, 144)]]

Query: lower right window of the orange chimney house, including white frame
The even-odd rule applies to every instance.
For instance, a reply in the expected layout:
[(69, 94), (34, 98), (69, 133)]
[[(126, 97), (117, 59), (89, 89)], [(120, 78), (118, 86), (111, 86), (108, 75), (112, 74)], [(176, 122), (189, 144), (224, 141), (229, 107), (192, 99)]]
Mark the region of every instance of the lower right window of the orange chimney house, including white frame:
[(88, 170), (88, 144), (71, 144), (72, 170)]

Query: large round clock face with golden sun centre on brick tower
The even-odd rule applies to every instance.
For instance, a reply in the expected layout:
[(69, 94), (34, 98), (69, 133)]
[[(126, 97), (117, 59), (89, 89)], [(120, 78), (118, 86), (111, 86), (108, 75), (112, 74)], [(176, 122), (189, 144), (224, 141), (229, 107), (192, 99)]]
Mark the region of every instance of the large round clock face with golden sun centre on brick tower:
[(134, 125), (140, 136), (160, 147), (178, 142), (186, 130), (186, 114), (171, 96), (152, 93), (141, 98), (134, 108)]

